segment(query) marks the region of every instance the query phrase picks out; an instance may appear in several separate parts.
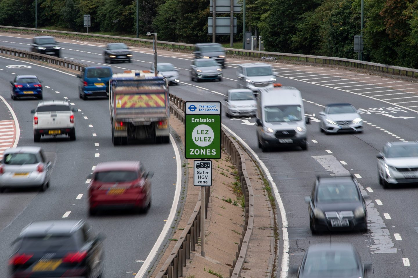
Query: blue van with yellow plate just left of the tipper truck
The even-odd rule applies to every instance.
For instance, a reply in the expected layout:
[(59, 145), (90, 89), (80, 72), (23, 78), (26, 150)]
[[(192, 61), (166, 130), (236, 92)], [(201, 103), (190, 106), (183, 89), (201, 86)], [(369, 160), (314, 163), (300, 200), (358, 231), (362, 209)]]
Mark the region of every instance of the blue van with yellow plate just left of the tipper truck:
[(106, 66), (86, 67), (80, 78), (79, 97), (86, 100), (88, 97), (108, 97), (109, 79), (112, 78), (112, 68)]

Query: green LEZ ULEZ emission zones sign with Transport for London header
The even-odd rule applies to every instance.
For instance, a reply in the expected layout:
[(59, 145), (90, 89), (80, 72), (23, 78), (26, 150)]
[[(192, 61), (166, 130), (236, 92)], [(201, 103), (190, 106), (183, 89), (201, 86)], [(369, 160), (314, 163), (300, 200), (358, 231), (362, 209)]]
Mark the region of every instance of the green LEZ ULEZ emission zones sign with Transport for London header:
[(221, 158), (220, 108), (219, 102), (186, 102), (185, 158)]

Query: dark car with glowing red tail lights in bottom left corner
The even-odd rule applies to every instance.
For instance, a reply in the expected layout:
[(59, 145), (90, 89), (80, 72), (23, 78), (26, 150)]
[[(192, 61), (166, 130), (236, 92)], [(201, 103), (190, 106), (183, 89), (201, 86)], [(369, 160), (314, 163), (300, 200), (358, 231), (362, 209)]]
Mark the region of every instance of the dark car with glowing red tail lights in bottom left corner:
[(33, 222), (13, 242), (10, 278), (104, 277), (102, 240), (83, 220)]

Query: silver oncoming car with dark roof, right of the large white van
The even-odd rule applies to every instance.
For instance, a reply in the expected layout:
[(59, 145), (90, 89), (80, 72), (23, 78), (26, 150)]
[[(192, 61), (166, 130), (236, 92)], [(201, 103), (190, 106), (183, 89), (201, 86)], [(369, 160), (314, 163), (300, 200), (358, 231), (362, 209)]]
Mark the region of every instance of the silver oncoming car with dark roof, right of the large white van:
[(319, 131), (328, 133), (363, 132), (363, 120), (349, 103), (328, 104), (319, 112)]

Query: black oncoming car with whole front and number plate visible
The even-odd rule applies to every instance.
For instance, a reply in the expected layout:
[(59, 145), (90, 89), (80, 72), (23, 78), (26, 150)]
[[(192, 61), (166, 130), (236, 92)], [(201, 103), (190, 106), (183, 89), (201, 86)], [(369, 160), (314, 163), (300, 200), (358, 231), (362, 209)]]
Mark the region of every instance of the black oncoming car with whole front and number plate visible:
[(312, 233), (320, 231), (367, 231), (367, 211), (359, 185), (352, 175), (316, 177), (311, 196), (305, 197), (309, 207)]

